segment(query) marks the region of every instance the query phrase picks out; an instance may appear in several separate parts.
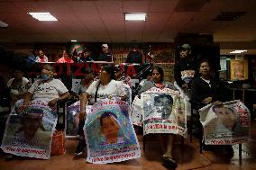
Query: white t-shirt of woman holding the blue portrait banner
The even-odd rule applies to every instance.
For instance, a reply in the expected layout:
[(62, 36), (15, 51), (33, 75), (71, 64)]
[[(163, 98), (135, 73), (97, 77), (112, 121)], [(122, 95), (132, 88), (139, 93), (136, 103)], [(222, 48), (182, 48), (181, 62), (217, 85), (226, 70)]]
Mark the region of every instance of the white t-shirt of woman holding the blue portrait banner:
[[(87, 89), (87, 94), (92, 97), (90, 99), (91, 103), (95, 102), (96, 86), (99, 84), (99, 80), (96, 80)], [(108, 85), (99, 85), (97, 91), (97, 100), (105, 99), (110, 96), (124, 96), (125, 91), (123, 85), (120, 82), (111, 80)]]

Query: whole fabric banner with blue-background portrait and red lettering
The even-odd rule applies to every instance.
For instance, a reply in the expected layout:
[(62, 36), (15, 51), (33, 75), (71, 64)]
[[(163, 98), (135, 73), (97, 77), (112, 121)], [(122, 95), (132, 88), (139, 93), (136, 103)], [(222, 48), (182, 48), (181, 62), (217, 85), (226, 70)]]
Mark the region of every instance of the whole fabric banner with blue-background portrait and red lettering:
[(106, 164), (141, 157), (127, 103), (105, 99), (87, 108), (87, 162)]

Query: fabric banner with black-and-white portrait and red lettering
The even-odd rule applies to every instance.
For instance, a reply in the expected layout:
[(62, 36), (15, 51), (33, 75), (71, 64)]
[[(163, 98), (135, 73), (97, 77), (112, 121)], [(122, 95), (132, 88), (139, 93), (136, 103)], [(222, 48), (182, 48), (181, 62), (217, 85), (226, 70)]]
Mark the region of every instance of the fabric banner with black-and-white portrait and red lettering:
[(156, 88), (142, 94), (143, 131), (149, 133), (173, 133), (187, 138), (186, 101), (179, 91)]

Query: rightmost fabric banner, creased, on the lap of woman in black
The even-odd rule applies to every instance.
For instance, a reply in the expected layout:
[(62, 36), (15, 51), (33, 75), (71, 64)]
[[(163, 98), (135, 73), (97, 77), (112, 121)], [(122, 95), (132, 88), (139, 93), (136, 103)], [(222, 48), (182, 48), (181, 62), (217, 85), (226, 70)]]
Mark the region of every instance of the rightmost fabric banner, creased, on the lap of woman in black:
[(250, 112), (240, 101), (200, 109), (206, 145), (233, 145), (250, 139)]

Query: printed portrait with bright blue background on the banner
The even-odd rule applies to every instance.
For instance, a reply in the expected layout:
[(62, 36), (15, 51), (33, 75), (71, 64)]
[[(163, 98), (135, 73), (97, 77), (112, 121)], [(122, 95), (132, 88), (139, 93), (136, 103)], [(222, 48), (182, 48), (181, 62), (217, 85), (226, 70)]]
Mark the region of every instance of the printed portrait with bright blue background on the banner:
[(129, 123), (127, 109), (109, 108), (90, 115), (87, 121), (87, 139), (91, 157), (118, 153), (118, 148), (122, 146), (136, 148), (136, 137), (133, 135), (133, 126)]

